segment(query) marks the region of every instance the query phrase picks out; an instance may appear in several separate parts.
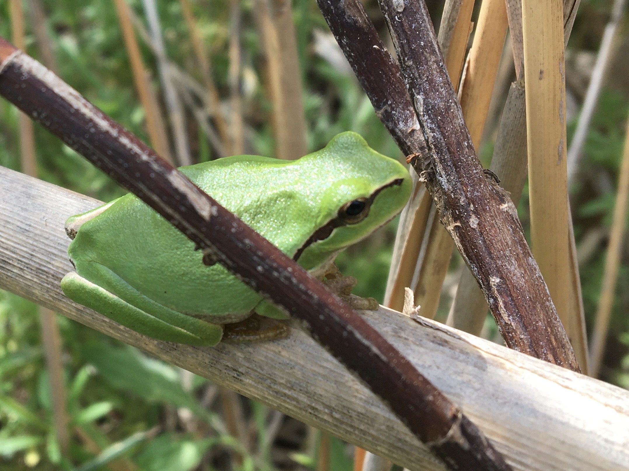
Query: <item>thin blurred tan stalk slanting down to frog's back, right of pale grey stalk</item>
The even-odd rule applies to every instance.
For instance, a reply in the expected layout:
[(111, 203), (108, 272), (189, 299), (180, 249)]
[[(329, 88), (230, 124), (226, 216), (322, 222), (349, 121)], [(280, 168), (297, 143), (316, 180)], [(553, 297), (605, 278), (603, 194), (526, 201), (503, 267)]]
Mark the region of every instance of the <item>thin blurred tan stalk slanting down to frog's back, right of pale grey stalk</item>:
[(203, 41), (201, 40), (201, 35), (199, 35), (199, 30), (196, 26), (196, 21), (194, 19), (194, 15), (192, 14), (192, 8), (189, 1), (179, 0), (179, 3), (181, 4), (181, 11), (184, 14), (184, 19), (186, 19), (186, 24), (190, 32), (192, 48), (194, 49), (194, 54), (196, 55), (197, 62), (199, 63), (201, 77), (203, 78), (203, 82), (208, 90), (208, 114), (214, 118), (214, 125), (216, 126), (216, 131), (218, 131), (218, 134), (220, 135), (221, 141), (223, 141), (223, 147), (229, 149), (229, 130), (225, 121), (223, 110), (221, 109), (221, 100), (218, 96), (216, 85), (214, 85), (214, 79), (212, 78), (211, 63), (209, 62), (208, 55), (203, 47)]

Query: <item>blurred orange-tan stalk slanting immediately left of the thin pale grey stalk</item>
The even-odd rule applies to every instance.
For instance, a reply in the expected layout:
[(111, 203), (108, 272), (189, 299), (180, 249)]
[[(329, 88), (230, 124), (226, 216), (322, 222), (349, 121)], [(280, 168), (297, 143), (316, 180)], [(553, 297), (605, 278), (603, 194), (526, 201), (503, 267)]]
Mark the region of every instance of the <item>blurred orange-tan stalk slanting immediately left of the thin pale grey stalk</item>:
[(142, 103), (142, 107), (144, 108), (147, 132), (151, 146), (158, 154), (169, 162), (172, 162), (167, 136), (164, 133), (166, 127), (163, 122), (160, 123), (160, 121), (162, 121), (162, 114), (155, 109), (156, 101), (151, 97), (152, 90), (150, 90), (146, 68), (142, 62), (138, 41), (135, 38), (135, 33), (133, 33), (129, 6), (126, 4), (125, 0), (114, 0), (114, 5), (116, 6), (120, 29), (122, 30), (125, 40), (126, 51), (131, 62), (135, 88), (140, 97), (140, 103)]

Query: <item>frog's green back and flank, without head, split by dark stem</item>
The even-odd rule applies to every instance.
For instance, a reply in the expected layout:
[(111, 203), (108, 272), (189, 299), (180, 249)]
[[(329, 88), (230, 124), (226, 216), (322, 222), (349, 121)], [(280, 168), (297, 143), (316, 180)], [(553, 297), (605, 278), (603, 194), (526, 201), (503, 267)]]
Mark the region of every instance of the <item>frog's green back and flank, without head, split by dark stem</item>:
[[(287, 228), (285, 221), (291, 220), (291, 212), (308, 208), (301, 207), (291, 191), (256, 184), (270, 178), (274, 187), (285, 188), (281, 169), (289, 164), (260, 156), (233, 156), (180, 170), (291, 254), (306, 236), (299, 237), (301, 228)], [(69, 255), (79, 275), (85, 271), (83, 264), (102, 264), (139, 293), (189, 315), (216, 316), (228, 322), (226, 314), (248, 313), (261, 299), (220, 264), (205, 266), (192, 241), (132, 194), (118, 198), (106, 212), (83, 224)]]

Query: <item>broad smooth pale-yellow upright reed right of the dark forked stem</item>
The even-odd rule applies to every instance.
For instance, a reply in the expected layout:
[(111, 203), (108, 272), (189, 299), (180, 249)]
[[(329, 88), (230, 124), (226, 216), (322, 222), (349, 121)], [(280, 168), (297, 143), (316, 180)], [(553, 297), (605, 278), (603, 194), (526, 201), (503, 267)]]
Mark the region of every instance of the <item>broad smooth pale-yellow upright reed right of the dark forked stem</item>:
[(523, 0), (531, 245), (564, 326), (571, 263), (565, 135), (564, 11), (560, 0)]

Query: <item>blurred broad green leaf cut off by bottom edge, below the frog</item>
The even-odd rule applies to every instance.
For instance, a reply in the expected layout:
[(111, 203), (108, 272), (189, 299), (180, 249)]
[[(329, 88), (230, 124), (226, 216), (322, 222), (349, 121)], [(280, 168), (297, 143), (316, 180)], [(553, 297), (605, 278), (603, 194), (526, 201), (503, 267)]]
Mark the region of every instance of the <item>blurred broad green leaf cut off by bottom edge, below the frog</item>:
[(136, 463), (145, 471), (190, 471), (198, 467), (213, 439), (190, 440), (164, 433), (148, 443)]

